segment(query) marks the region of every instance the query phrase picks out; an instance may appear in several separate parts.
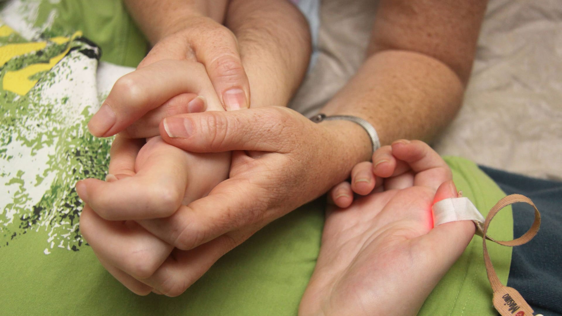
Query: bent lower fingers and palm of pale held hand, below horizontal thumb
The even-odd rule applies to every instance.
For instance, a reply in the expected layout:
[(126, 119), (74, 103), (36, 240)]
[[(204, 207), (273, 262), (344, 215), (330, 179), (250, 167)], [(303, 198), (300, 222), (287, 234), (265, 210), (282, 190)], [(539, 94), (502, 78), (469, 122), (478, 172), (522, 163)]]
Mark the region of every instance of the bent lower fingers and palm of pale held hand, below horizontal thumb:
[(159, 136), (146, 144), (117, 136), (111, 155), (107, 182), (86, 179), (76, 186), (87, 204), (80, 231), (117, 280), (137, 294), (148, 294), (152, 287), (144, 280), (174, 249), (155, 236), (157, 218), (206, 196), (228, 178), (230, 152), (193, 154)]

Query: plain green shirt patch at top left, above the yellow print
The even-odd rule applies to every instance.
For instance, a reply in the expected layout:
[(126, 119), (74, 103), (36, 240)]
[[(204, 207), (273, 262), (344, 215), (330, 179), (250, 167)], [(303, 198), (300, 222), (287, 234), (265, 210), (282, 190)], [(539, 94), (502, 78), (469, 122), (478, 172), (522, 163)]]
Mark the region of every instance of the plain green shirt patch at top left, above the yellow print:
[[(51, 22), (53, 12), (55, 19)], [(42, 0), (34, 25), (46, 24), (50, 24), (44, 32), (47, 38), (82, 31), (102, 48), (102, 61), (136, 67), (147, 53), (146, 39), (119, 0)]]

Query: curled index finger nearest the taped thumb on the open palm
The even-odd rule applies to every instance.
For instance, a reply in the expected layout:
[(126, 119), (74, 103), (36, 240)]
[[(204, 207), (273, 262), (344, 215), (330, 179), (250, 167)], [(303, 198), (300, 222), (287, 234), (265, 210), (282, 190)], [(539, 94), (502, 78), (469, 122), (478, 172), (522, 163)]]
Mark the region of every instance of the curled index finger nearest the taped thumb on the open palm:
[(392, 143), (392, 154), (396, 159), (407, 162), (416, 173), (416, 186), (437, 190), (441, 183), (452, 179), (451, 169), (445, 161), (422, 141), (396, 141)]

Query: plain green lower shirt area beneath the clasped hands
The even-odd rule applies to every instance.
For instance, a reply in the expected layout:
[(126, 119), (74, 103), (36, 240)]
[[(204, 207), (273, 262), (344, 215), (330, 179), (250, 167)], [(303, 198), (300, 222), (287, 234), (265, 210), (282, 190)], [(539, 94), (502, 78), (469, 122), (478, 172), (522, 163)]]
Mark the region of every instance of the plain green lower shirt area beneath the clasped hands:
[(315, 202), (270, 224), (175, 298), (133, 294), (90, 247), (44, 255), (47, 234), (29, 233), (0, 249), (0, 315), (296, 315), (319, 250), (321, 209)]

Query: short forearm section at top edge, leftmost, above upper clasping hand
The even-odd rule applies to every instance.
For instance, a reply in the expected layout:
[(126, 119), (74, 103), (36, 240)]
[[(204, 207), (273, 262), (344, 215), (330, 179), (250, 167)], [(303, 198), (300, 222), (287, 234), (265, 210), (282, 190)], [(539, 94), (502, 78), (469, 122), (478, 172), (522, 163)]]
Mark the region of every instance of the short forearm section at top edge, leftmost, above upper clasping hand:
[(154, 45), (187, 25), (190, 17), (206, 16), (224, 21), (228, 0), (124, 0), (140, 30)]

